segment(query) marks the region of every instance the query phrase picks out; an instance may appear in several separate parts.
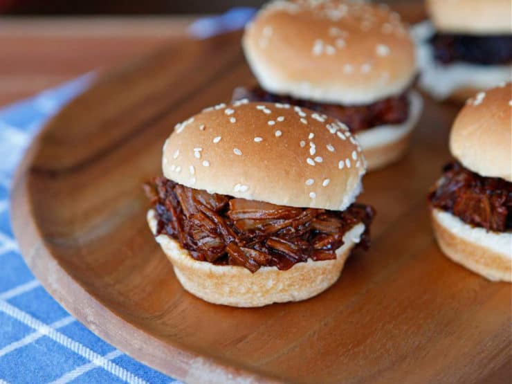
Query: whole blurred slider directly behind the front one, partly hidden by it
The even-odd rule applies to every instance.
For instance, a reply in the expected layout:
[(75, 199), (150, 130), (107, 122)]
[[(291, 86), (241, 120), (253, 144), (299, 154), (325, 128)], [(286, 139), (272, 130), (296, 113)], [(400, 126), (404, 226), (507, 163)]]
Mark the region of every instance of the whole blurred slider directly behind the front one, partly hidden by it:
[(234, 100), (307, 107), (345, 123), (369, 170), (408, 149), (422, 100), (414, 44), (396, 12), (349, 1), (273, 1), (242, 40), (259, 85)]

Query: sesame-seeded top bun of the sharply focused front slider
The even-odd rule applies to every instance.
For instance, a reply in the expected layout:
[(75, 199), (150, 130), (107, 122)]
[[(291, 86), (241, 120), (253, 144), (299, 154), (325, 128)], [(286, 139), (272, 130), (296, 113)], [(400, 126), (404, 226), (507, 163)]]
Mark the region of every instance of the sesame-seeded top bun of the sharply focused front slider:
[(345, 210), (365, 159), (345, 125), (289, 104), (240, 100), (176, 125), (163, 147), (167, 179), (210, 193)]

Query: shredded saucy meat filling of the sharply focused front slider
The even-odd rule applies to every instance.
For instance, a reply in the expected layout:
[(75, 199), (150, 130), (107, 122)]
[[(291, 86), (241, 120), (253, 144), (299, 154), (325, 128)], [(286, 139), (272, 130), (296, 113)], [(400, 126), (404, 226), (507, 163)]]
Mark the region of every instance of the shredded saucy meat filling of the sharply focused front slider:
[(307, 259), (336, 258), (343, 235), (365, 224), (358, 245), (369, 246), (374, 208), (354, 203), (342, 212), (293, 208), (210, 194), (158, 177), (145, 184), (156, 210), (156, 235), (179, 241), (194, 259), (220, 265), (291, 268)]

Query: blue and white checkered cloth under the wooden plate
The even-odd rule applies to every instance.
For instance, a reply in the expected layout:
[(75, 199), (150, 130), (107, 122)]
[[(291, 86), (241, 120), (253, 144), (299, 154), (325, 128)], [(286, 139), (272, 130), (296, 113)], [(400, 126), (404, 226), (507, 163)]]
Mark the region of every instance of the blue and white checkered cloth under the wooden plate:
[[(244, 26), (254, 10), (201, 19), (198, 38)], [(0, 384), (180, 383), (104, 342), (48, 295), (26, 266), (12, 235), (9, 188), (30, 139), (93, 74), (0, 110)]]

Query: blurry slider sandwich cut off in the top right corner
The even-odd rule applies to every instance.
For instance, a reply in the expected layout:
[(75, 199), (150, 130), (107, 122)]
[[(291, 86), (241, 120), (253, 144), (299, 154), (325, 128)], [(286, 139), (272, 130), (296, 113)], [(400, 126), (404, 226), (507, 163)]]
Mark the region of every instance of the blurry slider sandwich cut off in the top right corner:
[(413, 28), (419, 84), (438, 100), (464, 101), (511, 80), (510, 0), (428, 0), (431, 21)]

